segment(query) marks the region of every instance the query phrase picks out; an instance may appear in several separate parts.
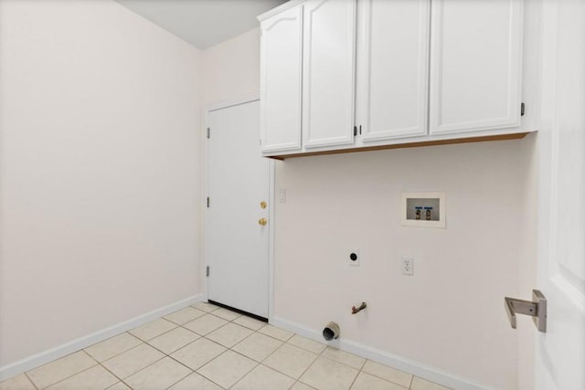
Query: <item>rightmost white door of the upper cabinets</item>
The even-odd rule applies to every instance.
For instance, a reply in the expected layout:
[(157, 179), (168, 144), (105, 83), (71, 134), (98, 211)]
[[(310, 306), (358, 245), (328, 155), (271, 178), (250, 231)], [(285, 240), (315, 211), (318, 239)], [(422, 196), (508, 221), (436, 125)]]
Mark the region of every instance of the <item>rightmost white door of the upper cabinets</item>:
[(519, 126), (522, 0), (431, 6), (431, 133)]

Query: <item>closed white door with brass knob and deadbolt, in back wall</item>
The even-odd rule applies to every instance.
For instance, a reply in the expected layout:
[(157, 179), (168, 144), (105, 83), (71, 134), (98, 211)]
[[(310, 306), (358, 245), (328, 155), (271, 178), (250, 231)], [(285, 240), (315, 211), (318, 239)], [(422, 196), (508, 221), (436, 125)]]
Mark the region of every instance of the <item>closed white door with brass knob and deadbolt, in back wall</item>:
[(208, 113), (207, 297), (267, 318), (270, 177), (259, 119), (258, 100)]

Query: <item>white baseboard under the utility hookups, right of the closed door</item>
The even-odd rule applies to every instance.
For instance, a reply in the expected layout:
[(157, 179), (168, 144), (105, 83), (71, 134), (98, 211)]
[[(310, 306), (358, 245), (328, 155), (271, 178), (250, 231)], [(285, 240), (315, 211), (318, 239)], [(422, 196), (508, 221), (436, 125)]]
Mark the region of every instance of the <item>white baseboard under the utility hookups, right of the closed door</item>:
[[(314, 341), (324, 343), (322, 330), (315, 331), (304, 327), (299, 323), (288, 321), (280, 317), (272, 317), (270, 323), (279, 328), (294, 332), (312, 339)], [(492, 390), (492, 387), (474, 382), (470, 379), (463, 378), (454, 374), (450, 374), (438, 368), (431, 367), (426, 364), (421, 364), (394, 353), (378, 350), (365, 344), (352, 342), (350, 340), (343, 340), (343, 338), (327, 343), (332, 347), (338, 348), (348, 353), (354, 353), (363, 358), (389, 365), (400, 371), (416, 375), (422, 379), (444, 385), (457, 390)]]

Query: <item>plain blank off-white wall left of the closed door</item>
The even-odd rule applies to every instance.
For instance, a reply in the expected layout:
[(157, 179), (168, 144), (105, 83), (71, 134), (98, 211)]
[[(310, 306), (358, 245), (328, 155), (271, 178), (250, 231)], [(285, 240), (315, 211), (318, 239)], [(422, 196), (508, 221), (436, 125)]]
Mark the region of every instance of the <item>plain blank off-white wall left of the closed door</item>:
[(0, 368), (200, 293), (200, 52), (0, 1)]

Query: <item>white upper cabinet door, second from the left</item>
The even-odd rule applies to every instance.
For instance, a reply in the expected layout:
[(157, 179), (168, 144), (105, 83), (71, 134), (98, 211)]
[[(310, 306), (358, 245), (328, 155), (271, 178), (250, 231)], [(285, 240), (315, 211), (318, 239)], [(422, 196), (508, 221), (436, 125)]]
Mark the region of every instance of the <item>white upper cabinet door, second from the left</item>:
[(355, 0), (304, 4), (303, 145), (354, 142)]

